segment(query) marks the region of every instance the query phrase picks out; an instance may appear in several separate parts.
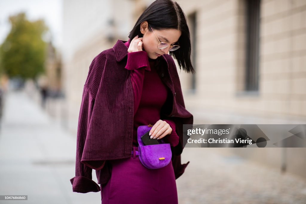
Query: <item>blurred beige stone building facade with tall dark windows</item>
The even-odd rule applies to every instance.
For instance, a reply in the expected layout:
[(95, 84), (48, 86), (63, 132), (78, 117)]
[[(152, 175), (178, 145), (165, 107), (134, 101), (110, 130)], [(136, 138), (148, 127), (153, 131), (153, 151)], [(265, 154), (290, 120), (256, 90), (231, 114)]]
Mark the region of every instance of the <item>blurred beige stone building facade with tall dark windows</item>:
[[(64, 0), (63, 85), (72, 131), (91, 60), (117, 39), (127, 40), (152, 2)], [(305, 124), (306, 1), (177, 2), (191, 32), (196, 74), (178, 72), (194, 124)], [(303, 148), (227, 151), (267, 165), (285, 164), (306, 177)]]

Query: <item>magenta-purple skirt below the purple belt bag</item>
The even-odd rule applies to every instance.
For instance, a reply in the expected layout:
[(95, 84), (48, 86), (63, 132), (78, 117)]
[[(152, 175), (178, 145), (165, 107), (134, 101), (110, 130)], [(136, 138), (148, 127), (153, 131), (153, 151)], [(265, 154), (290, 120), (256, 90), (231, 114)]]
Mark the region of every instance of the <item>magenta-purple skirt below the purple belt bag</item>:
[(130, 158), (110, 160), (110, 164), (110, 180), (100, 184), (102, 204), (178, 203), (171, 161), (165, 167), (147, 169), (138, 155), (131, 154)]

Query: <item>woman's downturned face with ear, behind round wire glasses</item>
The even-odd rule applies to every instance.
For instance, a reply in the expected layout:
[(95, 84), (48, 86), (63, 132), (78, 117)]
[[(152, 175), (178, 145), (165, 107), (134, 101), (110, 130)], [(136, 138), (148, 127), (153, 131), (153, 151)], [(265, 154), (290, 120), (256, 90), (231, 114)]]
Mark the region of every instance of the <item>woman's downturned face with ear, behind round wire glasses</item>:
[[(148, 25), (147, 21), (144, 21), (141, 25), (140, 28), (142, 31), (145, 31), (143, 34), (143, 50), (147, 52), (148, 57), (151, 59), (156, 59), (157, 57), (163, 55), (163, 54), (168, 54), (170, 46), (164, 49), (158, 49), (157, 46), (159, 44), (158, 39), (160, 42), (166, 42), (169, 43), (170, 45), (174, 45), (181, 36), (181, 31), (174, 29), (174, 28), (167, 28), (163, 30), (156, 30), (153, 28), (155, 34), (153, 31), (151, 31), (151, 27)], [(149, 32), (149, 29), (150, 31)], [(158, 55), (157, 55), (158, 54)]]

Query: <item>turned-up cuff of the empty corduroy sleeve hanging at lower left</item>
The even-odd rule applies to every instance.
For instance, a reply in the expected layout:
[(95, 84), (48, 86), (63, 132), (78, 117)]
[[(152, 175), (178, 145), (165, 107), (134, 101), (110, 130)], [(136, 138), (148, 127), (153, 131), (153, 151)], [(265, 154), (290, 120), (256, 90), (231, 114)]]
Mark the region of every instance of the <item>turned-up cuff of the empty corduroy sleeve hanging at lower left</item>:
[(84, 176), (74, 176), (70, 179), (72, 191), (77, 193), (99, 192), (100, 186), (93, 180)]

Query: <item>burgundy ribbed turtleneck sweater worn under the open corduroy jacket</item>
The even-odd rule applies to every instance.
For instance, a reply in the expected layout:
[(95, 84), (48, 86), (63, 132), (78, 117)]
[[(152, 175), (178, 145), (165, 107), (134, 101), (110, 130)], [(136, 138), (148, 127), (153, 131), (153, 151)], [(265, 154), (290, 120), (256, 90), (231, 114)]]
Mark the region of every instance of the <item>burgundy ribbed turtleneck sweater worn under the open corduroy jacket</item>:
[[(129, 41), (125, 43), (129, 47)], [(131, 57), (128, 53), (128, 57)], [(133, 53), (136, 54), (136, 53)], [(162, 105), (166, 102), (168, 90), (160, 79), (156, 69), (168, 69), (158, 67), (157, 59), (147, 57), (150, 67), (141, 67), (131, 70), (131, 81), (134, 91), (134, 126), (133, 147), (138, 147), (137, 128), (140, 125), (154, 125), (160, 119)], [(129, 60), (128, 60), (129, 61)], [(129, 64), (127, 65), (129, 66)], [(171, 146), (176, 146), (179, 137), (175, 132), (173, 121), (164, 120), (172, 128), (172, 133), (163, 137)]]

